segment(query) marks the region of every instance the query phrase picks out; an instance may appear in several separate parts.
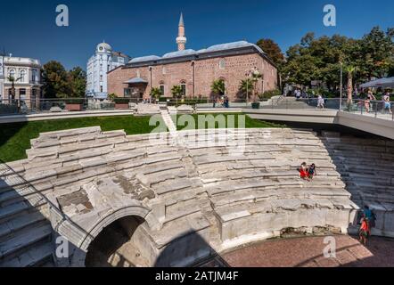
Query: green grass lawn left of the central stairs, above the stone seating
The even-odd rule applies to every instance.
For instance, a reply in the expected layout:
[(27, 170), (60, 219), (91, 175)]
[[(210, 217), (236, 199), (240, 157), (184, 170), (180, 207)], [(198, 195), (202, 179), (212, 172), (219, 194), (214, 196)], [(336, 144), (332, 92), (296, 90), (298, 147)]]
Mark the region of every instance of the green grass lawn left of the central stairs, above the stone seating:
[(149, 134), (150, 117), (115, 116), (94, 118), (66, 118), (23, 123), (0, 124), (0, 159), (4, 162), (26, 159), (30, 140), (40, 133), (86, 126), (101, 126), (103, 132), (124, 129), (127, 134)]

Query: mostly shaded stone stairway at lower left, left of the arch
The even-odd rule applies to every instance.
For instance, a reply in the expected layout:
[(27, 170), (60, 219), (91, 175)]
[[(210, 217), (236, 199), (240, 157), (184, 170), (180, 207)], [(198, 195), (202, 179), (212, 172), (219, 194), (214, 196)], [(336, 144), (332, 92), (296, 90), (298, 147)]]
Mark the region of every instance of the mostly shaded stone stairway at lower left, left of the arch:
[(53, 266), (45, 199), (0, 164), (0, 267)]

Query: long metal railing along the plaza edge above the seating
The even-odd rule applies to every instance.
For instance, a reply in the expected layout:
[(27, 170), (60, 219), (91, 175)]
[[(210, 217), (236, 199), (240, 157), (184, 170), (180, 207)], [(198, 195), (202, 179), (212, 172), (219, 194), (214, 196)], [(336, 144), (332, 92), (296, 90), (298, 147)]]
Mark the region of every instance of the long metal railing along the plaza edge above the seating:
[(262, 109), (262, 110), (341, 110), (362, 116), (394, 120), (394, 102), (368, 101), (354, 99), (348, 103), (346, 98), (328, 98), (324, 102), (316, 97), (295, 99), (294, 97), (275, 97), (259, 102), (225, 102), (208, 98), (168, 98), (159, 100), (143, 100), (136, 98), (118, 98), (115, 102), (94, 101), (88, 98), (37, 99), (0, 101), (0, 116), (15, 114), (55, 113), (63, 111), (94, 110), (132, 110), (135, 104), (156, 103), (166, 106), (193, 106), (193, 109)]

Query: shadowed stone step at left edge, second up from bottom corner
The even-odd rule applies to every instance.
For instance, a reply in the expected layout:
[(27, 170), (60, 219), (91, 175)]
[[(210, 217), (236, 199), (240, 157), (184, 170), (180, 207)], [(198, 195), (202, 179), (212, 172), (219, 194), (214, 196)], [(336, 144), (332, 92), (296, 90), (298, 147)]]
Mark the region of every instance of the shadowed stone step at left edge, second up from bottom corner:
[(0, 243), (0, 260), (7, 256), (16, 256), (23, 249), (36, 244), (41, 240), (50, 240), (52, 234), (52, 227), (50, 224), (45, 224), (40, 227), (34, 227), (26, 232), (19, 232), (19, 234), (10, 240)]

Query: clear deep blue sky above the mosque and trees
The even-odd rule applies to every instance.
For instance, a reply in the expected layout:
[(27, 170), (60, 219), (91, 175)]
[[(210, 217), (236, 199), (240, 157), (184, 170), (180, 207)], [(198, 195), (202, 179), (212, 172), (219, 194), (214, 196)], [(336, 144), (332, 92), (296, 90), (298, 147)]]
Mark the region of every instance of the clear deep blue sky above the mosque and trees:
[[(394, 27), (392, 0), (0, 0), (0, 51), (42, 63), (80, 66), (103, 40), (131, 57), (176, 51), (184, 12), (186, 48), (198, 50), (239, 40), (273, 39), (283, 50), (308, 32), (317, 37), (363, 37), (373, 26)], [(70, 26), (56, 26), (66, 4)], [(325, 4), (337, 12), (336, 27), (323, 24)]]

